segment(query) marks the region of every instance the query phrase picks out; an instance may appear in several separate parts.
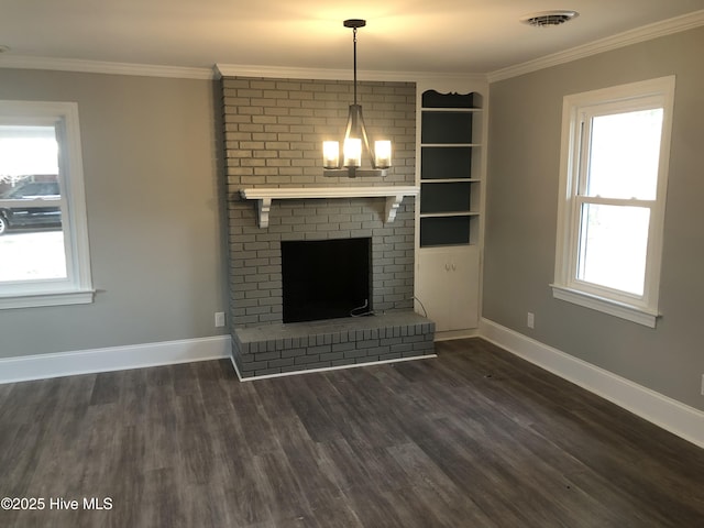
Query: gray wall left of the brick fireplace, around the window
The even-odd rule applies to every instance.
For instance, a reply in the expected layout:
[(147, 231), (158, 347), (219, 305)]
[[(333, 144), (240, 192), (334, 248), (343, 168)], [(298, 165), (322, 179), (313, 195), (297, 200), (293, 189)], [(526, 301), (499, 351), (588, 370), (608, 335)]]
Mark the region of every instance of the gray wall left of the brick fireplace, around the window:
[[(0, 99), (76, 101), (91, 305), (0, 310), (0, 358), (223, 333), (215, 81), (0, 68)], [(219, 105), (219, 101), (218, 101)]]

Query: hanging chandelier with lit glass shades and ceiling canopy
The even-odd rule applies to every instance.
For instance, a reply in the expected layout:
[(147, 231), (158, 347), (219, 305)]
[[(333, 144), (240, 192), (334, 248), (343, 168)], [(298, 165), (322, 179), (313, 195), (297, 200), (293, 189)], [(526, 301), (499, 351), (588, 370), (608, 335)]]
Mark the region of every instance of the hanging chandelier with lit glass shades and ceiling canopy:
[[(370, 138), (362, 117), (362, 106), (356, 99), (356, 30), (366, 25), (365, 20), (350, 19), (343, 22), (345, 28), (352, 29), (353, 65), (354, 65), (354, 102), (350, 105), (348, 125), (342, 142), (342, 160), (340, 158), (340, 143), (337, 141), (322, 142), (322, 158), (326, 176), (386, 176), (386, 169), (392, 166), (392, 142), (380, 140), (374, 142), (374, 150), (370, 146)], [(372, 165), (371, 169), (362, 169), (362, 151), (366, 150)]]

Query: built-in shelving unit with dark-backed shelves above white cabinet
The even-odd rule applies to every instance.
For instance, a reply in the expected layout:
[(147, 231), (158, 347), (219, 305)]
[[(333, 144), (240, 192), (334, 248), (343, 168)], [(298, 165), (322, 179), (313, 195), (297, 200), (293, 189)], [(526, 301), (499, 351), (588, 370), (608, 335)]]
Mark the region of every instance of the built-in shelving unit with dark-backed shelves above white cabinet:
[(486, 88), (473, 79), (419, 86), (416, 310), (436, 322), (437, 339), (479, 326)]

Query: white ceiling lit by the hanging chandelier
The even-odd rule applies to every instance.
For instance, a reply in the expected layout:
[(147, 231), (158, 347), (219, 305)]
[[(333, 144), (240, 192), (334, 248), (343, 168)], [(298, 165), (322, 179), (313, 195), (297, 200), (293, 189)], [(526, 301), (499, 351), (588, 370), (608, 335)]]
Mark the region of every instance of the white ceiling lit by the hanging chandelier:
[[(547, 29), (528, 13), (574, 10)], [(704, 0), (0, 0), (3, 61), (80, 59), (174, 67), (213, 64), (492, 73), (704, 9)]]

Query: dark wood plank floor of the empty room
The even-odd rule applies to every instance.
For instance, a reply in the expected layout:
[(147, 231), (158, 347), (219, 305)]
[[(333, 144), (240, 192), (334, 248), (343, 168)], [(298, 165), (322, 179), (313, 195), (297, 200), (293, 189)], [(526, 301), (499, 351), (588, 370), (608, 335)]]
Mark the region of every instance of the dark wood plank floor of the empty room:
[(704, 450), (482, 340), (438, 353), (249, 383), (216, 361), (0, 385), (0, 497), (45, 501), (0, 526), (704, 526)]

